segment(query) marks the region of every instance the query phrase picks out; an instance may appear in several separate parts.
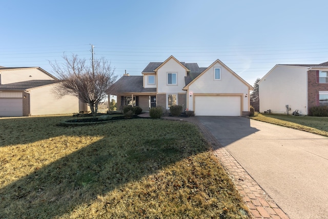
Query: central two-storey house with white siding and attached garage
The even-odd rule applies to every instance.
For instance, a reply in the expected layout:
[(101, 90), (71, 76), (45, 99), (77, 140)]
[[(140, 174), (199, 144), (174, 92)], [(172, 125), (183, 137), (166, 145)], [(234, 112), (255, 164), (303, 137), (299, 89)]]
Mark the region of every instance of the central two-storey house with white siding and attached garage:
[[(172, 105), (195, 111), (195, 115), (248, 115), (252, 86), (217, 59), (208, 68), (179, 62), (149, 63), (140, 76), (125, 74), (108, 95), (117, 95), (117, 106), (140, 106), (143, 111)], [(110, 100), (109, 100), (110, 101)]]

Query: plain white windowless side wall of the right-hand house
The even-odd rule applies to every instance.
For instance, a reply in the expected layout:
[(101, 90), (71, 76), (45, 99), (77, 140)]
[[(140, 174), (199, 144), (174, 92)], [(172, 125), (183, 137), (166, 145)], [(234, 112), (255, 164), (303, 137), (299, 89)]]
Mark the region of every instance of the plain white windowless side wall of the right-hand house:
[(298, 109), (307, 113), (307, 67), (275, 66), (259, 82), (260, 112), (286, 113), (289, 105), (292, 113)]

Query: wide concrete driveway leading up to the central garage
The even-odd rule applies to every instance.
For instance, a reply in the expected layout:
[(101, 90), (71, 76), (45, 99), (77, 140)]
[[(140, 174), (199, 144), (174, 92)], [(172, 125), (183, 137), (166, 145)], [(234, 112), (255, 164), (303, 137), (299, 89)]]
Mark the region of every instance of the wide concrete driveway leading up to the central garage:
[(197, 116), (291, 218), (328, 218), (328, 138), (245, 117)]

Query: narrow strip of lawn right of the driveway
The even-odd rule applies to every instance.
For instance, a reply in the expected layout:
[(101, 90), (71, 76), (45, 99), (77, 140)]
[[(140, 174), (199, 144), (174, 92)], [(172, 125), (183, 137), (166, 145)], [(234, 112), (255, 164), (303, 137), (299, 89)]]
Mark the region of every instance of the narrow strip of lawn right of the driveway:
[(328, 136), (328, 117), (258, 114), (253, 120)]

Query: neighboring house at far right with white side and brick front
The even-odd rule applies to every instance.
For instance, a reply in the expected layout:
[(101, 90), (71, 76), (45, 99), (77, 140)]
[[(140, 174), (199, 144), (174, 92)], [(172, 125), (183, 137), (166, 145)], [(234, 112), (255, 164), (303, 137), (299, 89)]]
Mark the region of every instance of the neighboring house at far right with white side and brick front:
[(328, 62), (276, 65), (258, 85), (260, 112), (307, 115), (311, 107), (328, 106)]

